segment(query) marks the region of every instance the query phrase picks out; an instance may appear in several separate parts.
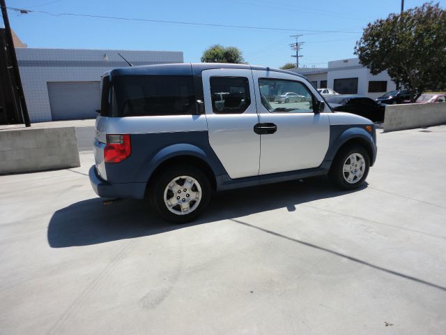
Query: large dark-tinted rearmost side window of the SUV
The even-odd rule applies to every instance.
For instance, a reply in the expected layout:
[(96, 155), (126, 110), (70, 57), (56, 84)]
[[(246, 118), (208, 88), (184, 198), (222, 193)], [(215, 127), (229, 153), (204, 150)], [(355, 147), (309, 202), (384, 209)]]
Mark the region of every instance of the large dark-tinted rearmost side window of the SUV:
[(113, 78), (121, 117), (193, 114), (192, 76), (125, 75)]

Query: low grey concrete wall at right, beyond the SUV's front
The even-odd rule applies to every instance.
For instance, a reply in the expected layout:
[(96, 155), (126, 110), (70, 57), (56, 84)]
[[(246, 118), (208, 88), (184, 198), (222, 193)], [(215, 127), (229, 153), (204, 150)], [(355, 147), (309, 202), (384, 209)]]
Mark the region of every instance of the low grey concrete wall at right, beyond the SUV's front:
[(385, 106), (384, 131), (401, 131), (438, 124), (446, 124), (446, 103)]

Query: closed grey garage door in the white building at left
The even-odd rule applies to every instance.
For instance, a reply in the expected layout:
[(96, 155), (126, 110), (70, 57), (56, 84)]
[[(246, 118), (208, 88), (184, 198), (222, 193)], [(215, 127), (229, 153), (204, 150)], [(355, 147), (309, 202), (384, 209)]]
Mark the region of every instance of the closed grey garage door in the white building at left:
[(47, 82), (52, 119), (93, 119), (99, 109), (100, 82)]

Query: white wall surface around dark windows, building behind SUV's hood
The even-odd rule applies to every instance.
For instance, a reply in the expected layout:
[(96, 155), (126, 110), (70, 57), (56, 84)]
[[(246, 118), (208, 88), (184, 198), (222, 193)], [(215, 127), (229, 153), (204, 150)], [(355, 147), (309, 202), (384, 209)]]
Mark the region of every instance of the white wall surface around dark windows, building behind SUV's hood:
[[(358, 78), (357, 94), (360, 96), (368, 96), (369, 98), (378, 98), (378, 96), (382, 96), (385, 91), (396, 89), (396, 85), (390, 79), (387, 71), (379, 73), (378, 75), (371, 75), (369, 69), (362, 66), (357, 58), (329, 61), (327, 78), (328, 88), (334, 89), (334, 80), (344, 78)], [(369, 81), (386, 81), (387, 89), (383, 92), (369, 92)]]

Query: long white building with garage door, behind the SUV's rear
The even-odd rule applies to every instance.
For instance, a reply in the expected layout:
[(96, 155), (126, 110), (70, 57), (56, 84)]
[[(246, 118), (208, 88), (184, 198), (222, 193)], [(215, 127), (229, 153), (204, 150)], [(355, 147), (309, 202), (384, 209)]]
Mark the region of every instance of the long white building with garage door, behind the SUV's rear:
[(100, 76), (133, 65), (183, 63), (183, 52), (16, 47), (31, 122), (89, 119), (99, 109)]

